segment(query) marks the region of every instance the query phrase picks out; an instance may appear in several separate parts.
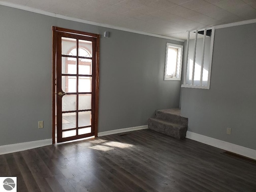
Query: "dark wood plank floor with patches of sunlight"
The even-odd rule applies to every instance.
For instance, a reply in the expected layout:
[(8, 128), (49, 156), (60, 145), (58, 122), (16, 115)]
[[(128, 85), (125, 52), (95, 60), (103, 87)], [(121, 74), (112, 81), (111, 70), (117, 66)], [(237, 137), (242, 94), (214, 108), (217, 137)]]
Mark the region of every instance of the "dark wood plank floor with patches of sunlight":
[(152, 130), (0, 155), (18, 192), (256, 192), (256, 165)]

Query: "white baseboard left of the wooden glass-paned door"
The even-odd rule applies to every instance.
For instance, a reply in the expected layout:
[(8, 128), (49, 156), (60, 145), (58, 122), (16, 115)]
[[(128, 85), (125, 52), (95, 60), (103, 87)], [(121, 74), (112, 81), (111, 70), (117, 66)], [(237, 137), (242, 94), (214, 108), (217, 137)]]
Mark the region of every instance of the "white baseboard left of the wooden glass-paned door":
[(30, 141), (30, 142), (24, 142), (24, 143), (15, 143), (10, 145), (2, 145), (0, 146), (0, 155), (38, 148), (38, 147), (51, 145), (51, 144), (52, 144), (52, 139), (44, 139), (44, 140)]

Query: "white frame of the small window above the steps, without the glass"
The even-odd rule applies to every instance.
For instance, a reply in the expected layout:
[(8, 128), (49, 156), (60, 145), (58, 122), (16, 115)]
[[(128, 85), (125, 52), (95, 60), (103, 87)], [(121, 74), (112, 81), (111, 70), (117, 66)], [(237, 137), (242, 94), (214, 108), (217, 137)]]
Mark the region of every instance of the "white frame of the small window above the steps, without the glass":
[[(172, 47), (178, 49), (177, 53), (177, 63), (176, 63), (176, 76), (167, 76), (167, 60), (168, 60), (168, 48)], [(166, 56), (165, 56), (165, 68), (164, 68), (164, 80), (165, 81), (180, 81), (181, 79), (181, 69), (182, 69), (182, 53), (183, 53), (183, 45), (177, 45), (172, 43), (166, 44)]]

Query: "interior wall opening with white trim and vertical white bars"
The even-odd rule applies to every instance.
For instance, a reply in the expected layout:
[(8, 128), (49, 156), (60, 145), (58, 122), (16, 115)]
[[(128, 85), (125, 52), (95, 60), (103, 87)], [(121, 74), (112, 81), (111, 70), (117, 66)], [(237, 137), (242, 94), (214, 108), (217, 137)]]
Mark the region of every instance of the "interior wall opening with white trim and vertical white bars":
[(182, 87), (210, 89), (214, 28), (188, 32)]

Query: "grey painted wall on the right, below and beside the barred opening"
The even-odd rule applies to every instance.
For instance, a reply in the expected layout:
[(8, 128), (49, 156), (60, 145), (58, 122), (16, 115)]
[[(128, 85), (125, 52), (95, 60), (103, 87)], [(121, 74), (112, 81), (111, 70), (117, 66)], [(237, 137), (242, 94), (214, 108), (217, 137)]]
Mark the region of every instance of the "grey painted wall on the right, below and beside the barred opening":
[(181, 91), (188, 131), (256, 149), (255, 31), (255, 23), (215, 31), (210, 90)]

